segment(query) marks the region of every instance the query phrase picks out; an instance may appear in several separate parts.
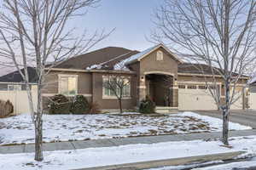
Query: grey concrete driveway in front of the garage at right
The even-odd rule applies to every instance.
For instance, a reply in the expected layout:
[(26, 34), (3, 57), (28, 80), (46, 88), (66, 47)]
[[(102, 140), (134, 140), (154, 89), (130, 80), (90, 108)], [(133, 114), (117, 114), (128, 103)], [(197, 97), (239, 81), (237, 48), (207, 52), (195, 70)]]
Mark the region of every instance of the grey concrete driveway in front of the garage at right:
[[(195, 111), (201, 115), (222, 118), (221, 111)], [(256, 129), (256, 111), (230, 111), (230, 122), (238, 122)]]

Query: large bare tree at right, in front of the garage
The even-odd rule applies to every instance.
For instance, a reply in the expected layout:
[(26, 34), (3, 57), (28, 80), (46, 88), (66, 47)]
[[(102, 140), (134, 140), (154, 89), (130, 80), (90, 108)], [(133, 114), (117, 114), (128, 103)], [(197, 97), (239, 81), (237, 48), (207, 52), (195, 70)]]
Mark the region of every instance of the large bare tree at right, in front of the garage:
[[(236, 84), (249, 65), (255, 64), (255, 11), (254, 0), (165, 0), (155, 13), (151, 40), (200, 64), (198, 69), (212, 87), (209, 92), (223, 111), (224, 144), (229, 144), (230, 105), (236, 101)], [(224, 82), (224, 102), (215, 90), (218, 78)]]

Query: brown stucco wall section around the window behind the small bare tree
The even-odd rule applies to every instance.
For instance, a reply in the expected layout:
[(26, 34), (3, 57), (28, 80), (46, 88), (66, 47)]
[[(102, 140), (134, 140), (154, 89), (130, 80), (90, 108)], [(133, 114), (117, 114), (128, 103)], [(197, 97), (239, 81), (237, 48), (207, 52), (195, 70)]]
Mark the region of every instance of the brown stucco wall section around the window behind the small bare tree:
[[(109, 76), (109, 74), (92, 73), (92, 101), (100, 105), (102, 109), (119, 109), (118, 99), (103, 99), (102, 77)], [(131, 98), (122, 100), (123, 109), (133, 109), (136, 106), (136, 90), (137, 77), (136, 75), (124, 75), (131, 77)]]

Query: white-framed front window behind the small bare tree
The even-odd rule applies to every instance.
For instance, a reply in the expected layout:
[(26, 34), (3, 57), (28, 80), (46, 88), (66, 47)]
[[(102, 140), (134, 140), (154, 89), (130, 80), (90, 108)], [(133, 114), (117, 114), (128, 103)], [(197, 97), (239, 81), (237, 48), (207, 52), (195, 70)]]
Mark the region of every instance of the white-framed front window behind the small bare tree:
[[(116, 94), (120, 96), (120, 88), (117, 86), (117, 82), (122, 82), (123, 90), (122, 97), (131, 97), (131, 82), (129, 78), (117, 78), (115, 81), (113, 77), (103, 77), (103, 98), (116, 98)], [(110, 85), (114, 88), (109, 88)]]

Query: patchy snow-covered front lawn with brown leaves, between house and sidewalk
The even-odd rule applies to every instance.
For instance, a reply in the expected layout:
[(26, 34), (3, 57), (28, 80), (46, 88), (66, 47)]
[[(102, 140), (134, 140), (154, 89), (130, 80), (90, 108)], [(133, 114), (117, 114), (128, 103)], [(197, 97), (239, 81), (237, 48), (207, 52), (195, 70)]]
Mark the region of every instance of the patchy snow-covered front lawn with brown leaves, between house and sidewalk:
[[(0, 119), (0, 145), (34, 142), (28, 114)], [(231, 130), (250, 129), (230, 122)], [(44, 115), (44, 142), (221, 131), (222, 121), (193, 112), (170, 115)]]

